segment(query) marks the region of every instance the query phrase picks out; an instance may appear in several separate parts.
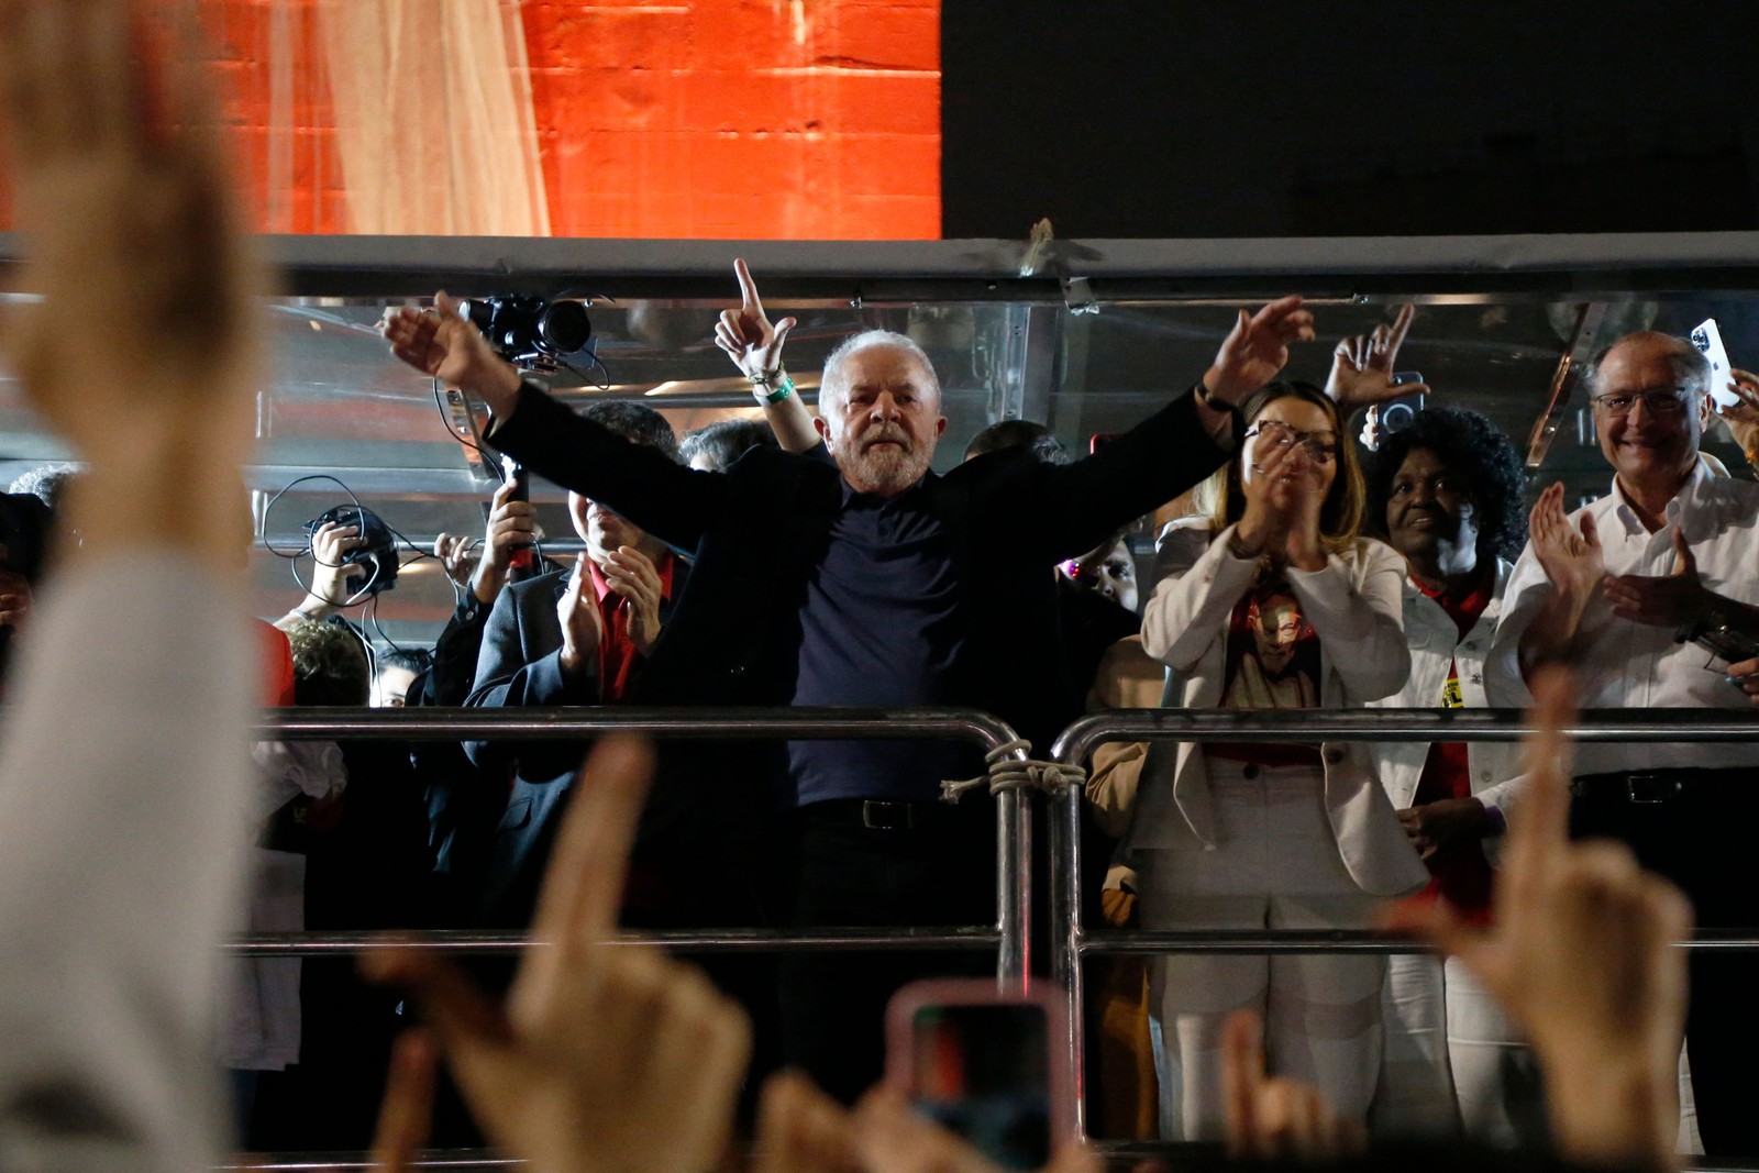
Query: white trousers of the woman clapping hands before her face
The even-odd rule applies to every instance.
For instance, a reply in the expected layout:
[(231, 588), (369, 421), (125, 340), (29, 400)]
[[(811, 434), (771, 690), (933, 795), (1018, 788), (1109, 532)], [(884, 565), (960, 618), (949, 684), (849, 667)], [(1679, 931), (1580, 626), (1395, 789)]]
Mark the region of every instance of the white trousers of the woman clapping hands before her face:
[[(1344, 869), (1319, 767), (1208, 758), (1215, 846), (1179, 828), (1175, 846), (1138, 853), (1142, 927), (1367, 929), (1376, 897)], [(1381, 1069), (1384, 957), (1200, 955), (1157, 958), (1163, 1140), (1221, 1140), (1221, 1027), (1235, 1009), (1265, 1018), (1270, 1071), (1314, 1083), (1363, 1120)]]

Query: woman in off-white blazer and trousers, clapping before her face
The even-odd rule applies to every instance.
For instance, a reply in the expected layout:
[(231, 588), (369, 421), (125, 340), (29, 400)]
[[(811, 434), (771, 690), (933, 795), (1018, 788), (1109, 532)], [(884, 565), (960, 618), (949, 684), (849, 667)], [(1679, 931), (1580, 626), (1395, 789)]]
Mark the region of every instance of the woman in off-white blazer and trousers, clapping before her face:
[[(1270, 383), (1242, 412), (1245, 443), (1212, 482), (1208, 517), (1168, 528), (1143, 649), (1193, 709), (1346, 709), (1397, 691), (1411, 667), (1404, 561), (1358, 538), (1361, 473), (1332, 399)], [(1180, 744), (1150, 765), (1128, 846), (1143, 929), (1365, 929), (1420, 888), (1365, 746)], [(1363, 1118), (1381, 1064), (1386, 962), (1367, 955), (1173, 955), (1150, 1006), (1161, 1041), (1161, 1134), (1223, 1134), (1219, 1038), (1265, 1015), (1274, 1071)]]

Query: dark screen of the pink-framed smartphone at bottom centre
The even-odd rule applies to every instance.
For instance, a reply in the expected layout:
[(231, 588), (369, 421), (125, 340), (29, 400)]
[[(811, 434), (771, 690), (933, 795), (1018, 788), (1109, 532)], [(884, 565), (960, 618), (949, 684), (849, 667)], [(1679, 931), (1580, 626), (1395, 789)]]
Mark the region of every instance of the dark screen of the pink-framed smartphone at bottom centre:
[(916, 1006), (911, 1099), (1004, 1169), (1050, 1161), (1050, 1022), (1041, 1006)]

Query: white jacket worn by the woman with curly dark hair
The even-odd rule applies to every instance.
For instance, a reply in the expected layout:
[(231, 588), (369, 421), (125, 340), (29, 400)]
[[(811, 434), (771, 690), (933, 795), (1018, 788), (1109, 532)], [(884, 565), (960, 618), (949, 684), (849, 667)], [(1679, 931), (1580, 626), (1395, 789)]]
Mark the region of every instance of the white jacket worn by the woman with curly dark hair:
[[(1485, 659), (1497, 638), (1497, 621), (1502, 616), (1502, 591), (1509, 584), (1509, 563), (1497, 561), (1497, 586), (1465, 637), (1455, 626), (1441, 603), (1420, 591), (1411, 579), (1404, 582), (1405, 640), (1411, 645), (1411, 679), (1405, 686), (1370, 709), (1435, 709), (1441, 689), (1448, 682), (1448, 665), (1460, 665), (1460, 698), (1467, 709), (1488, 709), (1485, 696)], [(1404, 811), (1416, 798), (1428, 760), (1428, 742), (1377, 742), (1374, 760), (1381, 772), (1381, 786), (1393, 809)], [(1465, 760), (1472, 772), (1472, 797), (1509, 816), (1525, 777), (1520, 776), (1520, 742), (1465, 742)]]

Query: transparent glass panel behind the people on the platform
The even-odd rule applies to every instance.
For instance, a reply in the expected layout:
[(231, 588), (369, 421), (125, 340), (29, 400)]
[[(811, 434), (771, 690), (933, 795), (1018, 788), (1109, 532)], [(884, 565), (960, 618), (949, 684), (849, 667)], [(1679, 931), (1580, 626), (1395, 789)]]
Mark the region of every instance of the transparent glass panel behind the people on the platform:
[[(1602, 295), (1604, 297), (1604, 295)], [(1391, 297), (1319, 299), (1319, 341), (1300, 346), (1286, 371), (1323, 383), (1332, 345), (1391, 317)], [(1632, 329), (1683, 334), (1706, 317), (1722, 327), (1736, 366), (1759, 366), (1759, 294), (1697, 292), (1606, 301), (1544, 295), (1414, 295), (1418, 315), (1398, 366), (1420, 371), (1432, 403), (1490, 415), (1523, 452), (1537, 457), (1534, 484), (1562, 480), (1580, 503), (1608, 491), (1609, 475), (1594, 441), (1585, 399), (1573, 382), (1548, 413), (1564, 355), (1588, 357)], [(322, 302), (322, 304), (318, 304)], [(477, 535), (493, 484), (466, 443), (449, 431), (433, 383), (396, 362), (376, 336), (387, 304), (403, 299), (285, 299), (273, 302), (274, 368), (259, 399), (259, 545), (252, 556), (257, 610), (280, 616), (303, 594), (296, 573), (310, 559), (281, 557), (304, 549), (304, 522), (348, 503), (350, 492), (408, 538), (394, 591), (364, 608), (362, 619), (398, 644), (431, 644), (452, 610), (452, 593), (433, 559), (438, 533)], [(758, 417), (742, 378), (712, 345), (725, 301), (628, 301), (589, 304), (596, 361), (575, 355), (580, 373), (552, 380), (572, 403), (600, 396), (640, 399), (679, 434), (732, 415)], [(1087, 452), (1096, 434), (1128, 429), (1208, 366), (1226, 332), (1233, 301), (1098, 301), (1077, 311), (1064, 304), (1006, 301), (913, 301), (908, 304), (772, 299), (772, 317), (800, 318), (788, 339), (788, 366), (802, 397), (816, 399), (818, 368), (848, 334), (904, 331), (934, 357), (945, 387), (946, 436), (936, 468), (953, 466), (966, 441), (1001, 419), (1045, 422), (1071, 452)], [(1244, 304), (1244, 302), (1238, 302)], [(1583, 329), (1587, 324), (1587, 331)], [(90, 361), (127, 378), (127, 364)], [(114, 366), (111, 366), (114, 364)], [(1532, 443), (1544, 422), (1548, 441)], [(118, 420), (118, 426), (127, 426)], [(0, 378), (0, 477), (63, 459), (53, 436), (21, 404), (11, 378)], [(1704, 448), (1729, 468), (1741, 452), (1722, 426)], [(273, 508), (267, 501), (299, 477)], [(575, 538), (563, 494), (538, 482), (533, 499), (549, 538), (545, 552), (566, 554)], [(271, 549), (273, 547), (273, 552)], [(375, 614), (376, 612), (376, 614)]]

